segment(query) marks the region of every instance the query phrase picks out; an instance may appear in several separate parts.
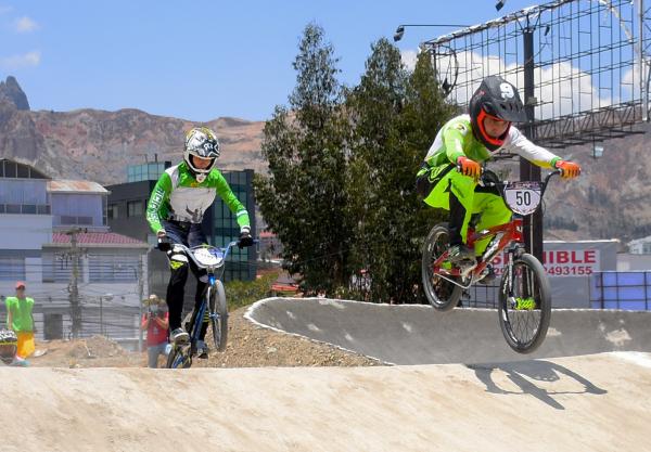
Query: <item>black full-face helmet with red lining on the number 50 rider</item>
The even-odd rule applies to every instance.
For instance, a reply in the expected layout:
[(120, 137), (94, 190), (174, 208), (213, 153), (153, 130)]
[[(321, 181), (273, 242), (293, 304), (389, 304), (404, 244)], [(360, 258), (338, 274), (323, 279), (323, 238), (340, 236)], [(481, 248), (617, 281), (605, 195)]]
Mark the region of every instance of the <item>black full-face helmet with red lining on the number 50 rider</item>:
[(488, 150), (496, 151), (505, 143), (509, 134), (509, 128), (500, 137), (490, 137), (484, 127), (484, 119), (494, 119), (508, 122), (526, 121), (524, 104), (518, 93), (518, 88), (500, 76), (489, 76), (482, 81), (475, 91), (468, 107), (472, 131)]

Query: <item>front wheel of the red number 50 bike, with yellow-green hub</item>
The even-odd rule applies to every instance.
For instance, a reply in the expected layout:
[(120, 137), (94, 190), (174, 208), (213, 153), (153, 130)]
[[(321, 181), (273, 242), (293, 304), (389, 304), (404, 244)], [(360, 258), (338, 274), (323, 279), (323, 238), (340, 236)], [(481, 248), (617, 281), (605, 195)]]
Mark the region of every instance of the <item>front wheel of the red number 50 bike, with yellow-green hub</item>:
[(542, 264), (534, 256), (523, 254), (516, 258), (510, 275), (505, 269), (498, 313), (499, 326), (513, 350), (531, 353), (540, 347), (551, 318), (551, 288)]

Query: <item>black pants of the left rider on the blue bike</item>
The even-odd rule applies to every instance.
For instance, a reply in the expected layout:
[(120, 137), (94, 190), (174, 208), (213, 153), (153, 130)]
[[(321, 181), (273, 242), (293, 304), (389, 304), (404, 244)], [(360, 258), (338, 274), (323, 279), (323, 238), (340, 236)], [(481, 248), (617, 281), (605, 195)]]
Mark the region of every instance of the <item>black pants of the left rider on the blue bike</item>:
[[(186, 246), (197, 246), (207, 243), (205, 234), (200, 223), (182, 223), (176, 221), (163, 221), (163, 228), (169, 241), (180, 243)], [(174, 331), (181, 326), (183, 314), (183, 300), (186, 296), (186, 282), (188, 281), (188, 269), (196, 277), (196, 293), (194, 294), (194, 307), (199, 309), (202, 302), (203, 293), (206, 288), (206, 282), (201, 281), (205, 277), (205, 272), (197, 269), (194, 262), (180, 249), (175, 249), (174, 245), (167, 253), (171, 275), (167, 284), (167, 308), (169, 309), (169, 328)], [(194, 321), (194, 319), (192, 320)], [(201, 328), (201, 339), (206, 335), (208, 324), (204, 323)]]

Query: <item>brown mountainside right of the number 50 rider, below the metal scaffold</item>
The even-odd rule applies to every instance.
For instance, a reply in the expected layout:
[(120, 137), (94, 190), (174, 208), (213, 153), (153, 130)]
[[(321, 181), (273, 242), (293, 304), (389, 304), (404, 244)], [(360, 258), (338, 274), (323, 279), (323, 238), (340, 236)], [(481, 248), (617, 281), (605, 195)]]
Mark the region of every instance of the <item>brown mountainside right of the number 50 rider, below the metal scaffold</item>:
[(633, 238), (651, 235), (651, 124), (637, 133), (601, 143), (603, 156), (592, 157), (592, 146), (554, 151), (582, 165), (574, 181), (552, 180), (545, 195), (546, 238)]

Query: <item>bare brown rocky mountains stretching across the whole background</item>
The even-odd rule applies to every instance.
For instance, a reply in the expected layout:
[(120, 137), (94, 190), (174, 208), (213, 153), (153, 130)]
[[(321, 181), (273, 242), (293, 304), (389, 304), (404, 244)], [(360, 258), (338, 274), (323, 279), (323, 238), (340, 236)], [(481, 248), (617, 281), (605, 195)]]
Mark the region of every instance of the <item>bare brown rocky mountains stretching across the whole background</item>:
[[(30, 112), (13, 77), (0, 82), (0, 157), (56, 178), (112, 184), (126, 181), (126, 166), (143, 163), (145, 156), (178, 162), (183, 131), (194, 125), (138, 109)], [(220, 168), (266, 171), (260, 154), (264, 122), (219, 118), (205, 125), (219, 133)], [(651, 132), (651, 125), (639, 126), (639, 131)], [(584, 175), (573, 182), (553, 180), (546, 195), (546, 238), (627, 242), (651, 234), (649, 137), (607, 141), (597, 160), (591, 146), (556, 151), (580, 163)]]

